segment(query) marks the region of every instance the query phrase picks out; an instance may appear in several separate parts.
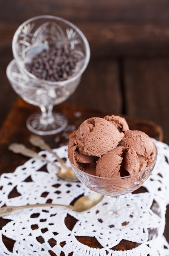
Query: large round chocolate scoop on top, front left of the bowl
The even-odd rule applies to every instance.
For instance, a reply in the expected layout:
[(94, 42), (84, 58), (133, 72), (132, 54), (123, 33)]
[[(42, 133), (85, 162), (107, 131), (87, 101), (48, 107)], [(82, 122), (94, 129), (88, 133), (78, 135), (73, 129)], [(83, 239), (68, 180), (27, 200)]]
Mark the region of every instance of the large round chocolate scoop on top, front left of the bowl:
[(93, 117), (80, 125), (76, 131), (75, 144), (81, 154), (101, 157), (115, 148), (123, 136), (111, 122)]

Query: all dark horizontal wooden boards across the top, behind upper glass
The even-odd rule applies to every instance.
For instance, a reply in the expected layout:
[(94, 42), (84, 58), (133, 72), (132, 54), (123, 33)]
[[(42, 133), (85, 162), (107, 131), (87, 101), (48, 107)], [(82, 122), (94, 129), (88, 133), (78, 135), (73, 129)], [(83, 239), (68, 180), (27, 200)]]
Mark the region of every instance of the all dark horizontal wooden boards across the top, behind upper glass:
[(169, 54), (167, 0), (1, 0), (0, 46), (33, 16), (70, 20), (87, 36), (92, 55)]

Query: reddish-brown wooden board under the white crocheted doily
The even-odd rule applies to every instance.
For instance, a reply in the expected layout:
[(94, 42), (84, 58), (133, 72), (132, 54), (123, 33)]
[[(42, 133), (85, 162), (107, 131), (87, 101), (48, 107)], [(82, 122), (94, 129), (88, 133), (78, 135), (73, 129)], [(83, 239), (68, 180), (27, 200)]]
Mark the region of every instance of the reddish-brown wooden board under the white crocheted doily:
[[(31, 132), (26, 127), (26, 119), (27, 117), (34, 111), (36, 111), (36, 107), (29, 105), (28, 103), (25, 103), (22, 99), (18, 99), (16, 103), (14, 104), (13, 108), (9, 112), (9, 115), (7, 119), (4, 121), (4, 124), (0, 130), (0, 155), (2, 156), (0, 158), (0, 173), (9, 173), (13, 172), (17, 166), (20, 166), (24, 164), (28, 160), (27, 157), (24, 157), (22, 155), (14, 154), (11, 151), (8, 150), (8, 146), (12, 142), (18, 142), (23, 143), (29, 148), (32, 148), (33, 150), (38, 151), (38, 148), (35, 148), (31, 146), (29, 143), (29, 136), (31, 135)], [(87, 108), (79, 108), (77, 106), (72, 106), (69, 104), (62, 103), (59, 106), (55, 107), (55, 110), (58, 110), (62, 112), (64, 115), (66, 115), (69, 119), (69, 125), (75, 125), (75, 128), (78, 128), (78, 126), (81, 124), (82, 121), (89, 117), (104, 117), (105, 113), (98, 112), (95, 110), (87, 109)], [(110, 113), (106, 113), (106, 115)], [(157, 140), (162, 140), (163, 137), (163, 131), (160, 126), (155, 124), (152, 121), (145, 121), (140, 119), (132, 119), (129, 117), (126, 117), (126, 120), (129, 124), (129, 128), (131, 129), (138, 129), (146, 132), (149, 136), (154, 137)], [(67, 131), (67, 135), (69, 135), (70, 131)], [(65, 139), (64, 136), (62, 136), (62, 132), (58, 135), (52, 135), (52, 136), (44, 136), (44, 139), (52, 148), (57, 148), (60, 146), (60, 144), (67, 144), (68, 140)], [(59, 140), (58, 140), (59, 138)], [(12, 192), (13, 197), (17, 196), (16, 191)], [(167, 240), (169, 241), (169, 209), (167, 209), (167, 223), (166, 223), (166, 229), (165, 229), (165, 236)], [(71, 227), (73, 225), (72, 220), (67, 218), (67, 225)], [(7, 223), (7, 220), (0, 218), (0, 228), (2, 228)], [(79, 238), (82, 243), (85, 243), (89, 246), (98, 247), (98, 242), (93, 239), (87, 239), (87, 238)], [(13, 241), (4, 238), (4, 243), (9, 248), (9, 250), (12, 250), (13, 247)], [(52, 243), (52, 241), (51, 241)], [(131, 249), (134, 247), (134, 243), (124, 241), (116, 246), (116, 249)], [(115, 249), (115, 248), (114, 248)]]

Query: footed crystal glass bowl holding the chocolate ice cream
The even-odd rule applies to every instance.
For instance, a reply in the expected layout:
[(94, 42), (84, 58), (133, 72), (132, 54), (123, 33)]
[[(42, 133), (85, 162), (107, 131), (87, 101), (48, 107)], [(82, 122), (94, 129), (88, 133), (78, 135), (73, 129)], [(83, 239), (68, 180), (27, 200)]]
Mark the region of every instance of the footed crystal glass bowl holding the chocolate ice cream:
[[(125, 203), (120, 201), (120, 195), (125, 195), (127, 193), (133, 192), (136, 189), (140, 188), (143, 183), (149, 178), (151, 175), (153, 168), (156, 164), (157, 160), (157, 148), (154, 144), (154, 159), (153, 162), (147, 166), (144, 170), (136, 173), (134, 175), (128, 175), (125, 177), (98, 177), (95, 175), (91, 175), (85, 171), (81, 171), (74, 164), (71, 164), (73, 171), (76, 176), (92, 191), (100, 193), (102, 195), (109, 196), (109, 205), (107, 205), (107, 209), (100, 213), (100, 218), (105, 218), (107, 215), (107, 221), (110, 219), (111, 222), (111, 214), (119, 215), (123, 212), (124, 215), (130, 216), (130, 209), (124, 207)], [(131, 204), (131, 203), (130, 203)], [(132, 212), (135, 211), (135, 208), (139, 207), (132, 205)], [(124, 213), (125, 212), (125, 213)], [(131, 214), (133, 216), (133, 213)]]

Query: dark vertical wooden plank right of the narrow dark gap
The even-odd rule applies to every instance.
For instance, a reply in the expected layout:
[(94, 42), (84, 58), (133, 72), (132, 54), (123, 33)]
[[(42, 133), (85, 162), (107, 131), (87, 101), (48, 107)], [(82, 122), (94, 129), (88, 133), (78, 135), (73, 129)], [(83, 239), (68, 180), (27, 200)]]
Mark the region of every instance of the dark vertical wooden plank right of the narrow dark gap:
[(164, 130), (169, 144), (169, 60), (127, 59), (124, 64), (126, 113), (133, 118), (152, 120)]

